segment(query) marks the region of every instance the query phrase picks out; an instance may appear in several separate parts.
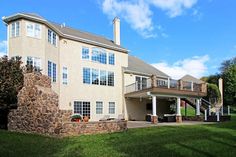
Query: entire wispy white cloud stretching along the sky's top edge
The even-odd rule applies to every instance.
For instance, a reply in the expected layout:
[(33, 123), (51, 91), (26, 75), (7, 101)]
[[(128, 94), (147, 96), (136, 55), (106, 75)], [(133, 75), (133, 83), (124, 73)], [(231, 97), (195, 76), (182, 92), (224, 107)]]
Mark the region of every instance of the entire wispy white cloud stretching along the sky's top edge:
[[(164, 32), (153, 33), (154, 24), (152, 20), (153, 12), (150, 6), (167, 11), (169, 17), (176, 17), (183, 13), (185, 9), (191, 8), (197, 0), (102, 0), (102, 10), (110, 18), (119, 16), (144, 38), (168, 37)], [(159, 30), (159, 29), (158, 29)]]

